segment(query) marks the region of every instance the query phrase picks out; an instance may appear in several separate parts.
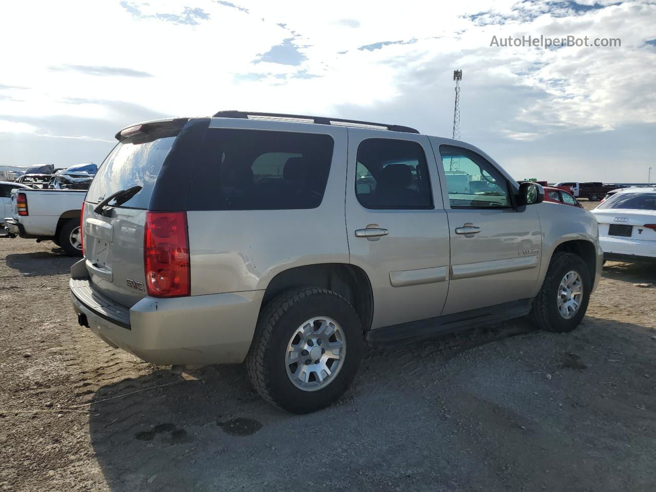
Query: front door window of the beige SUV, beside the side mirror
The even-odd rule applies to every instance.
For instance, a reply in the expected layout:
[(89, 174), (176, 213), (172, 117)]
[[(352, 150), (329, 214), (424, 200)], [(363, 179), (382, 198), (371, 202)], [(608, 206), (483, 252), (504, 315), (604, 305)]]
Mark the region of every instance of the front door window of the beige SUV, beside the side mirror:
[(483, 157), (469, 150), (440, 146), (451, 207), (510, 207), (508, 182)]

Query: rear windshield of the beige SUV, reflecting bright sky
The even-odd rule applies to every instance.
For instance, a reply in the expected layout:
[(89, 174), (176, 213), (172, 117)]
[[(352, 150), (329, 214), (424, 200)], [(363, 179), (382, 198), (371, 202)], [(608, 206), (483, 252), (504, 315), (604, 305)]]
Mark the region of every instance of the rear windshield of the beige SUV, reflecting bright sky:
[(176, 134), (172, 133), (159, 131), (119, 142), (100, 165), (86, 201), (99, 203), (113, 193), (141, 186), (142, 189), (121, 207), (148, 209), (157, 174), (176, 139)]

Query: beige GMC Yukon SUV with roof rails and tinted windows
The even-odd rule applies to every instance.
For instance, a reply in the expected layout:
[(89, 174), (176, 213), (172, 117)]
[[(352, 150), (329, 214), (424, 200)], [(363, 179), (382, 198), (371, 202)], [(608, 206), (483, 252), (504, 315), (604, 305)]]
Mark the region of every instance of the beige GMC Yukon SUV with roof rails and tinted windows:
[(365, 345), (583, 318), (597, 221), (478, 148), (398, 125), (219, 112), (127, 127), (83, 205), (79, 323), (156, 364), (245, 361), (295, 413)]

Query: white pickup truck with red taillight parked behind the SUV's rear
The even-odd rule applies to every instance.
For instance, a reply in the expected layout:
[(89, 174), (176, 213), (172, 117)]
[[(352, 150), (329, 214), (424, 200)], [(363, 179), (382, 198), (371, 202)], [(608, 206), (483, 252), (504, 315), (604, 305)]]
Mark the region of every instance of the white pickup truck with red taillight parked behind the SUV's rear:
[(86, 190), (14, 190), (7, 234), (52, 241), (70, 256), (82, 256), (80, 209)]

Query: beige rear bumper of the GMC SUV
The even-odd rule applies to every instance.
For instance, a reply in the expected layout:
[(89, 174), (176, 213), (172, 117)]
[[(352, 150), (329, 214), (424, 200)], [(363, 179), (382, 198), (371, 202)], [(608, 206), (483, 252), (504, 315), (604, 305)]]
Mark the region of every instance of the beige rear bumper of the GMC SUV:
[(73, 308), (115, 348), (159, 365), (239, 363), (253, 340), (264, 291), (144, 297), (130, 309), (71, 279)]

